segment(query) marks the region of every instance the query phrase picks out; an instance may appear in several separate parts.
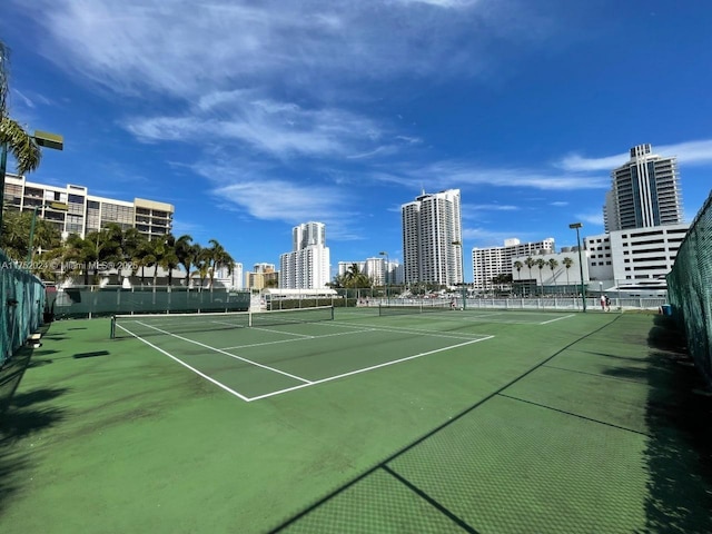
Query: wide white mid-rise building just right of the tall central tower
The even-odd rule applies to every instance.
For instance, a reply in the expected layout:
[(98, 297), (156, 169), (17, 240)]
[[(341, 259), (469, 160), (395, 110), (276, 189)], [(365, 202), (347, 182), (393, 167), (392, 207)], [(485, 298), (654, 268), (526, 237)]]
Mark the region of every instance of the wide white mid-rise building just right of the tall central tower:
[(553, 254), (554, 248), (554, 238), (552, 237), (537, 243), (524, 244), (518, 239), (505, 239), (504, 247), (473, 248), (473, 288), (483, 290), (492, 287), (492, 279), (498, 275), (513, 275), (513, 280), (516, 281), (517, 277), (514, 276), (512, 269), (513, 258)]

